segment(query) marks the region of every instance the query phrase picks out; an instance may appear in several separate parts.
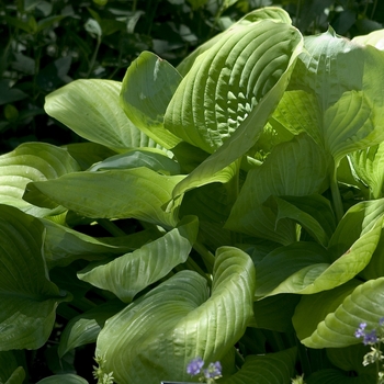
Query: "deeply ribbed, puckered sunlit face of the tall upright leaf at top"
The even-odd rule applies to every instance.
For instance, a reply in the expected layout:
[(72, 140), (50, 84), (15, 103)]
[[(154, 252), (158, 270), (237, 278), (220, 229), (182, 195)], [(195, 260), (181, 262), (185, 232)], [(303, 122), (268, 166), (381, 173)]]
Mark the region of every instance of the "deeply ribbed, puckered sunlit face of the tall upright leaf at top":
[(269, 20), (235, 29), (197, 56), (168, 105), (166, 128), (214, 153), (276, 84), (300, 41), (291, 25)]

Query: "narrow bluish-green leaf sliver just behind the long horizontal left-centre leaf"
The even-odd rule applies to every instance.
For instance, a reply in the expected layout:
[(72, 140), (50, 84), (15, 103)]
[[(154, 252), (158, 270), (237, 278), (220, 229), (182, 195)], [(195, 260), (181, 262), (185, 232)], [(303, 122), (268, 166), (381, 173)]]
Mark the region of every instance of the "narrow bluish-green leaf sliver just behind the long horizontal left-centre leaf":
[(124, 154), (115, 155), (91, 167), (90, 171), (105, 169), (129, 169), (147, 167), (163, 174), (179, 174), (180, 166), (170, 159), (162, 150), (156, 148), (131, 149)]

